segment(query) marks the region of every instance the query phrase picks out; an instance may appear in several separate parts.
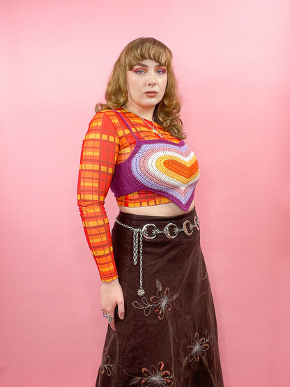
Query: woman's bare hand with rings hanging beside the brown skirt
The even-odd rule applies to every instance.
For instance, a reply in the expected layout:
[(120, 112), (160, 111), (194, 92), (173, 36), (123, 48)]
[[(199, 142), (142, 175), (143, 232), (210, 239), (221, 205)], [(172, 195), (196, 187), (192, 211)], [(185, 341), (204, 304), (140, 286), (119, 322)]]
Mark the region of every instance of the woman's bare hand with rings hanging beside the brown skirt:
[[(118, 314), (121, 320), (125, 316), (124, 297), (118, 278), (110, 282), (102, 282), (100, 286), (100, 305), (102, 310), (114, 317), (115, 308), (118, 306)], [(116, 331), (115, 321), (109, 323), (113, 331)]]

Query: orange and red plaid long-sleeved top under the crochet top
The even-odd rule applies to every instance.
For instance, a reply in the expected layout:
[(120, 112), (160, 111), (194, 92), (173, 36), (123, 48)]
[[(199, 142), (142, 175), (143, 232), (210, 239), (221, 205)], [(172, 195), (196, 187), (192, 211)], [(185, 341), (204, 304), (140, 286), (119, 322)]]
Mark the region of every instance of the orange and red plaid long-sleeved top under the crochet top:
[[(131, 122), (130, 128), (138, 139), (159, 138), (139, 116), (125, 109), (118, 109), (118, 111), (130, 120), (127, 121)], [(158, 129), (162, 131), (161, 126), (158, 126)], [(162, 132), (162, 135), (171, 142), (179, 142), (169, 132)], [(82, 144), (77, 204), (86, 240), (103, 282), (118, 278), (109, 221), (104, 207), (105, 197), (116, 163), (126, 160), (135, 144), (135, 137), (113, 110), (103, 110), (93, 116)], [(153, 206), (171, 202), (167, 197), (151, 191), (132, 192), (129, 195), (117, 197), (116, 200), (119, 206), (128, 207)]]

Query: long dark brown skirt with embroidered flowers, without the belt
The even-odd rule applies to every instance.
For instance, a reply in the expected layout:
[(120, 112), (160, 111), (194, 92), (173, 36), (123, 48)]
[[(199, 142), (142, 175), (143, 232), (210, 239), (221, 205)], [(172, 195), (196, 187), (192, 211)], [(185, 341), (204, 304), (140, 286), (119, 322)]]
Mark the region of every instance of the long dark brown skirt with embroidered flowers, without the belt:
[[(133, 232), (115, 222), (114, 257), (125, 298), (125, 319), (108, 325), (96, 387), (223, 387), (211, 286), (200, 248), (195, 208), (174, 217), (119, 213), (133, 228), (153, 223), (164, 230), (142, 238), (144, 296), (138, 296), (140, 267), (133, 264)], [(190, 228), (190, 225), (193, 225)], [(196, 227), (197, 226), (197, 227)], [(155, 227), (149, 227), (152, 232)], [(140, 246), (139, 246), (140, 247)]]

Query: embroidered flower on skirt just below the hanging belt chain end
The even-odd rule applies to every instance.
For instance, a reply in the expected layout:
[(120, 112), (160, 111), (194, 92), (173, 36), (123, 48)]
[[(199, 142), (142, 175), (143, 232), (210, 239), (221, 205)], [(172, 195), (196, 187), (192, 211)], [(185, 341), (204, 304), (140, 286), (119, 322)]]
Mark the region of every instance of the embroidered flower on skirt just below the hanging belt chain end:
[(156, 296), (150, 298), (150, 302), (147, 301), (146, 297), (142, 297), (142, 303), (138, 301), (133, 302), (133, 306), (137, 309), (144, 309), (145, 316), (148, 316), (151, 313), (151, 310), (158, 313), (158, 319), (162, 320), (164, 317), (168, 317), (170, 310), (172, 309), (171, 301), (176, 300), (178, 293), (171, 295), (169, 287), (165, 288), (165, 291), (162, 291), (162, 284), (160, 281), (156, 280), (157, 292)]

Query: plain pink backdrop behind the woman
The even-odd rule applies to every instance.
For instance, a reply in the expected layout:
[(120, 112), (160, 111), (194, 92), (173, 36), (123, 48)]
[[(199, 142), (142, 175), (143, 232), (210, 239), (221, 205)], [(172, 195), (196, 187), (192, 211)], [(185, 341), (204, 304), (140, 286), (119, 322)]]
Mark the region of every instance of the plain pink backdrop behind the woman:
[[(289, 386), (289, 10), (1, 1), (1, 387), (95, 384), (106, 324), (76, 204), (79, 153), (116, 57), (139, 36), (174, 53), (225, 386)], [(113, 221), (111, 194), (107, 211)]]

